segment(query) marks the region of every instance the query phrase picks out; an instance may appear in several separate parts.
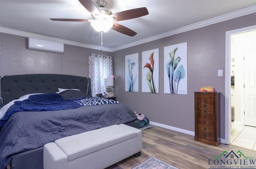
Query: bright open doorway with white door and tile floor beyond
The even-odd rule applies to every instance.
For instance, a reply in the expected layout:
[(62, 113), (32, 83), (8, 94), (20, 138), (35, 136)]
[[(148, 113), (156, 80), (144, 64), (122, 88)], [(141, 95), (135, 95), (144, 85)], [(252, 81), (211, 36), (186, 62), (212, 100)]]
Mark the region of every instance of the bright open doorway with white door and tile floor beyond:
[[(231, 81), (228, 97), (230, 110), (226, 112), (225, 108), (225, 117), (226, 115), (231, 117), (229, 118), (230, 125), (225, 126), (225, 132), (227, 132), (227, 127), (230, 127), (228, 133), (230, 144), (256, 150), (256, 109), (254, 106), (256, 94), (252, 94), (256, 90), (254, 89), (254, 85), (256, 88), (256, 29), (249, 27), (227, 32), (227, 39), (230, 42), (230, 47), (228, 46), (230, 69), (227, 70), (226, 64), (226, 74), (229, 72), (228, 77)], [(228, 142), (226, 140), (226, 143)]]

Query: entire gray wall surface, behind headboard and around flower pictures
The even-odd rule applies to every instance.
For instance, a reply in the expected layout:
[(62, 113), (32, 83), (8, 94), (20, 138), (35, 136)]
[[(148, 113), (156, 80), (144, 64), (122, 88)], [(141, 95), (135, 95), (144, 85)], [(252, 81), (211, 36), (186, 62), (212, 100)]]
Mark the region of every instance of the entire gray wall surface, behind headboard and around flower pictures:
[[(225, 77), (217, 76), (218, 69), (225, 75), (225, 33), (256, 25), (255, 18), (254, 13), (112, 53), (72, 45), (64, 45), (62, 54), (32, 51), (27, 49), (26, 37), (0, 33), (0, 75), (58, 73), (87, 77), (88, 54), (110, 55), (117, 99), (153, 122), (194, 131), (194, 92), (201, 86), (214, 86), (221, 92), (221, 138), (225, 138)], [(188, 42), (188, 94), (164, 94), (164, 47), (182, 42)], [(141, 53), (156, 48), (159, 48), (159, 94), (144, 93)], [(139, 92), (125, 92), (125, 55), (132, 53), (139, 53)]]

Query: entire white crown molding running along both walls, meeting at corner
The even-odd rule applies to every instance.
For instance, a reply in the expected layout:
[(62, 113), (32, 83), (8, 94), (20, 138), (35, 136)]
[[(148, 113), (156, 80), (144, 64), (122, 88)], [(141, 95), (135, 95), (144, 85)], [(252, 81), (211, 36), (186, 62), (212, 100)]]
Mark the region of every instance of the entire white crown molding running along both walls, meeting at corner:
[(33, 37), (33, 38), (38, 38), (38, 39), (43, 39), (43, 40), (48, 40), (48, 41), (54, 41), (54, 42), (68, 44), (68, 45), (86, 47), (86, 48), (90, 48), (90, 49), (114, 52), (114, 51), (118, 51), (118, 50), (125, 49), (125, 48), (128, 48), (128, 47), (140, 45), (142, 43), (147, 43), (147, 42), (154, 41), (154, 40), (157, 40), (157, 39), (162, 39), (164, 37), (168, 37), (168, 36), (175, 35), (175, 34), (178, 34), (178, 33), (190, 31), (190, 30), (197, 29), (197, 28), (202, 28), (204, 26), (216, 24), (216, 23), (219, 23), (219, 22), (223, 22), (223, 21), (226, 21), (226, 20), (233, 19), (233, 18), (238, 18), (240, 16), (252, 14), (252, 13), (255, 13), (255, 12), (256, 12), (256, 6), (251, 6), (251, 7), (248, 7), (248, 8), (244, 8), (242, 10), (237, 10), (235, 12), (231, 12), (231, 13), (228, 13), (228, 14), (217, 16), (215, 18), (204, 20), (204, 21), (198, 22), (196, 24), (191, 24), (191, 25), (188, 25), (188, 26), (184, 26), (182, 28), (174, 29), (172, 31), (161, 33), (161, 34), (158, 34), (158, 35), (155, 35), (155, 36), (152, 36), (152, 37), (141, 39), (139, 41), (128, 43), (126, 45), (122, 45), (122, 46), (115, 47), (115, 48), (102, 47), (102, 49), (101, 49), (99, 46), (96, 46), (96, 45), (89, 45), (89, 44), (86, 44), (86, 43), (68, 41), (68, 40), (65, 40), (65, 39), (58, 39), (58, 38), (54, 38), (54, 37), (38, 35), (38, 34), (35, 34), (35, 33), (28, 33), (28, 32), (24, 32), (24, 31), (18, 31), (18, 30), (2, 28), (2, 27), (0, 27), (0, 32), (9, 33), (9, 34), (13, 34), (13, 35), (20, 35), (20, 36), (24, 36), (24, 37)]

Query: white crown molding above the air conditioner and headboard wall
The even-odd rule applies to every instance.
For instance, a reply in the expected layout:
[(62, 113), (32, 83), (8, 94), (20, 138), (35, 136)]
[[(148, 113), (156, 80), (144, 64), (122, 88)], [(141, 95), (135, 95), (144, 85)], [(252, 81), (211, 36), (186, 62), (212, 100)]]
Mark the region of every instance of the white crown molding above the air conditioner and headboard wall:
[(65, 40), (65, 39), (58, 39), (58, 38), (55, 38), (55, 37), (38, 35), (38, 34), (35, 34), (35, 33), (28, 33), (28, 32), (18, 31), (18, 30), (14, 30), (14, 29), (8, 29), (8, 28), (0, 27), (0, 32), (9, 33), (9, 34), (12, 34), (12, 35), (19, 35), (19, 36), (24, 36), (24, 37), (32, 37), (32, 38), (36, 38), (36, 39), (54, 41), (54, 42), (58, 42), (58, 43), (64, 43), (64, 44), (67, 44), (67, 45), (86, 47), (86, 48), (90, 48), (90, 49), (96, 49), (96, 50), (102, 50), (102, 51), (108, 51), (108, 52), (111, 51), (110, 48), (106, 48), (106, 47), (102, 47), (102, 49), (101, 49), (99, 46), (96, 46), (96, 45), (89, 45), (89, 44), (86, 44), (86, 43), (68, 41), (68, 40)]

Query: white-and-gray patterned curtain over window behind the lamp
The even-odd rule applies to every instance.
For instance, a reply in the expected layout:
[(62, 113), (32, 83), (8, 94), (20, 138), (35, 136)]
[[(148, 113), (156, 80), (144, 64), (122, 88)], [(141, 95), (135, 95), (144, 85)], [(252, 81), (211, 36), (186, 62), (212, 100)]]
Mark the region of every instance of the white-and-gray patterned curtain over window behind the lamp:
[(113, 63), (111, 56), (90, 54), (89, 77), (91, 78), (92, 96), (105, 92), (104, 79), (113, 75)]

